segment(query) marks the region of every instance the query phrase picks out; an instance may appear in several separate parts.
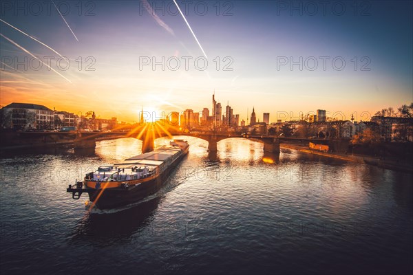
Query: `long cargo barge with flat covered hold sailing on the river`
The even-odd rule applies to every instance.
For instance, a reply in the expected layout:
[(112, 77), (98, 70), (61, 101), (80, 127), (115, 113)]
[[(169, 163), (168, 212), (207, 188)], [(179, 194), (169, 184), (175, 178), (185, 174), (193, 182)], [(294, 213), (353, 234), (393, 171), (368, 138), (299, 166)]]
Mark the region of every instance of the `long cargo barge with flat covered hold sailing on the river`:
[(165, 183), (173, 168), (187, 155), (189, 144), (184, 140), (173, 140), (169, 146), (125, 159), (112, 166), (100, 166), (87, 173), (83, 181), (69, 185), (73, 199), (86, 192), (93, 207), (117, 208), (140, 201), (152, 195)]

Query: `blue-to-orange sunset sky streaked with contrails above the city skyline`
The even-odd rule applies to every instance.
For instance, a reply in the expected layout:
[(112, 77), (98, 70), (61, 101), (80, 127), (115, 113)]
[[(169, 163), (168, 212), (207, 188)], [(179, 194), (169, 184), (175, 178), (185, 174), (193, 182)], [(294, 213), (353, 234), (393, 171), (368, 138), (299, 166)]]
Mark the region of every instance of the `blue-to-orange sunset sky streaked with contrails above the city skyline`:
[[(187, 9), (176, 2), (204, 53), (173, 1), (56, 1), (72, 31), (53, 4), (3, 1), (0, 104), (133, 122), (141, 106), (211, 111), (215, 89), (241, 119), (255, 107), (257, 118), (269, 112), (274, 122), (277, 111), (326, 109), (350, 119), (413, 101), (412, 1), (186, 1)], [(54, 71), (36, 69), (23, 48), (51, 60)], [(69, 58), (67, 69), (56, 52)]]

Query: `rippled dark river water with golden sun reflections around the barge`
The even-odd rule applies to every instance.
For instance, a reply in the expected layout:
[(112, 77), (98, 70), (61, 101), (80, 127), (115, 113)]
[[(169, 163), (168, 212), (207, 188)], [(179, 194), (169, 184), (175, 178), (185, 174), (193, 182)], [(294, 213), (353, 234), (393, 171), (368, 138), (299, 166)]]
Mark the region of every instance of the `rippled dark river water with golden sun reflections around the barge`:
[(412, 175), (240, 139), (209, 155), (187, 140), (158, 194), (92, 213), (65, 188), (137, 155), (138, 140), (3, 155), (1, 274), (412, 273)]

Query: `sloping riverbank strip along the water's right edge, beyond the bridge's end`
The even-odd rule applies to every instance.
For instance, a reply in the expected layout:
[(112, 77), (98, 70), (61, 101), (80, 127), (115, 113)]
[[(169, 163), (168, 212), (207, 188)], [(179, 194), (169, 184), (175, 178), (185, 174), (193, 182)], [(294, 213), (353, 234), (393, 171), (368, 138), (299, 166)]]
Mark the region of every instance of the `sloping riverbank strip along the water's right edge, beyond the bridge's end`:
[(371, 164), (381, 168), (387, 168), (392, 170), (400, 170), (403, 172), (413, 173), (413, 168), (409, 164), (401, 164), (396, 159), (379, 159), (379, 157), (372, 157), (369, 155), (347, 155), (343, 153), (324, 153), (308, 148), (304, 145), (298, 144), (279, 144), (281, 148), (289, 148), (297, 150), (303, 153), (310, 153), (313, 155), (321, 155), (323, 157), (332, 157), (335, 159), (342, 159), (347, 162), (357, 162), (363, 164)]

